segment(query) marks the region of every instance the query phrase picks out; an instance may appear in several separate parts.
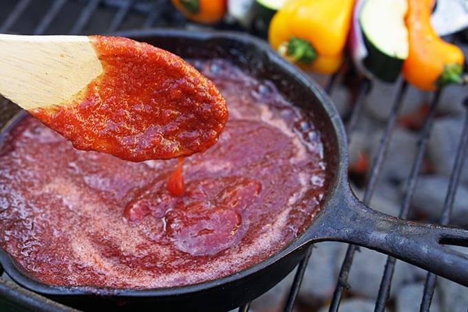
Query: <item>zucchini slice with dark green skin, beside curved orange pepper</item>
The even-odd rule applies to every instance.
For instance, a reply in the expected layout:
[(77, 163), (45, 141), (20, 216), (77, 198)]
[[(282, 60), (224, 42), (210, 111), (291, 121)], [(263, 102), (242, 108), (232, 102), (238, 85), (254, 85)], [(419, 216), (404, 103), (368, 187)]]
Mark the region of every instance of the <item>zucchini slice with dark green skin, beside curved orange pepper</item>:
[(383, 81), (396, 81), (408, 57), (406, 12), (406, 0), (367, 0), (361, 8), (359, 24), (368, 50), (363, 65)]

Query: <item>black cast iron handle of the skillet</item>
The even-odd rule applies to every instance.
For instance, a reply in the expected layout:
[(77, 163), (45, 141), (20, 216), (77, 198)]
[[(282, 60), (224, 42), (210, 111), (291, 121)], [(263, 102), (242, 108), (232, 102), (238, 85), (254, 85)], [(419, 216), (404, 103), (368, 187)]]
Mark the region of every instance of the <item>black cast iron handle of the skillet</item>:
[(365, 207), (351, 191), (344, 205), (323, 209), (313, 241), (337, 240), (386, 253), (468, 287), (468, 255), (443, 245), (468, 247), (468, 231), (394, 218)]

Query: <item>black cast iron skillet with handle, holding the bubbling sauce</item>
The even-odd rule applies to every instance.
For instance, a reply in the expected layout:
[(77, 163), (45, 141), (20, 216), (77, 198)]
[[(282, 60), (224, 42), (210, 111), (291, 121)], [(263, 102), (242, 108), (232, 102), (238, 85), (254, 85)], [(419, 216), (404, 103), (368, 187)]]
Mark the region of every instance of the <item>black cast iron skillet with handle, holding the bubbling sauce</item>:
[[(272, 80), (291, 103), (303, 107), (319, 127), (325, 143), (328, 193), (321, 212), (301, 236), (281, 251), (253, 267), (218, 280), (145, 290), (52, 287), (31, 278), (5, 251), (0, 251), (1, 264), (19, 284), (81, 309), (109, 309), (109, 304), (118, 304), (120, 308), (131, 309), (222, 311), (240, 306), (273, 287), (304, 257), (310, 243), (338, 240), (387, 253), (468, 286), (468, 256), (441, 245), (468, 246), (468, 231), (401, 220), (359, 202), (348, 185), (345, 132), (330, 98), (266, 43), (232, 32), (147, 30), (122, 35), (184, 58), (229, 59), (260, 79)], [(10, 123), (3, 133), (13, 124)]]

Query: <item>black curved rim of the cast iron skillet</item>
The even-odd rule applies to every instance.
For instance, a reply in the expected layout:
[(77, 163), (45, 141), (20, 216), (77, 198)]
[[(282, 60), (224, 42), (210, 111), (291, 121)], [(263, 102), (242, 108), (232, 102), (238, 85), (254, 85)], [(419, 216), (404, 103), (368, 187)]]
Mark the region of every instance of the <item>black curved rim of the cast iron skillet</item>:
[[(341, 121), (341, 117), (339, 113), (332, 104), (332, 100), (326, 94), (324, 90), (321, 89), (313, 81), (308, 77), (304, 72), (297, 69), (294, 65), (288, 63), (281, 58), (274, 50), (270, 48), (268, 43), (261, 39), (257, 39), (250, 34), (245, 34), (242, 32), (227, 32), (227, 31), (202, 31), (202, 32), (192, 32), (189, 30), (177, 30), (177, 29), (151, 29), (151, 30), (132, 30), (128, 32), (119, 32), (116, 34), (122, 37), (129, 37), (136, 40), (143, 39), (144, 37), (175, 37), (175, 38), (182, 38), (182, 39), (192, 39), (198, 41), (211, 41), (211, 40), (231, 40), (237, 41), (244, 45), (255, 45), (259, 51), (263, 52), (266, 56), (266, 60), (270, 63), (273, 63), (281, 68), (288, 76), (291, 77), (292, 81), (296, 83), (301, 83), (302, 85), (306, 86), (308, 90), (310, 90), (315, 96), (317, 97), (317, 101), (321, 103), (323, 110), (325, 110), (326, 114), (330, 118), (330, 123), (334, 129), (335, 136), (337, 138), (337, 156), (339, 160), (339, 165), (337, 167), (337, 172), (335, 172), (335, 179), (333, 185), (330, 185), (330, 192), (326, 198), (326, 201), (323, 202), (321, 207), (321, 211), (324, 209), (328, 209), (330, 205), (336, 205), (333, 200), (334, 194), (339, 189), (339, 185), (343, 185), (346, 180), (347, 170), (348, 170), (348, 144), (345, 135), (345, 129), (343, 126), (343, 122)], [(19, 121), (19, 115), (24, 114), (24, 112), (20, 112), (16, 116), (12, 117), (10, 122), (8, 122), (3, 129), (0, 130), (0, 136), (3, 134), (8, 133), (8, 129), (10, 129), (17, 121)], [(318, 218), (316, 216), (315, 219)], [(274, 253), (273, 255), (269, 256), (265, 260), (254, 264), (251, 267), (243, 269), (242, 271), (233, 273), (232, 275), (225, 276), (223, 278), (218, 278), (216, 280), (209, 280), (206, 282), (200, 282), (198, 284), (189, 284), (180, 287), (167, 287), (167, 288), (159, 288), (159, 289), (114, 289), (114, 288), (106, 288), (106, 287), (61, 287), (61, 286), (52, 286), (43, 284), (36, 280), (35, 278), (28, 277), (27, 272), (25, 272), (21, 267), (15, 264), (15, 261), (12, 257), (3, 249), (0, 249), (0, 263), (5, 269), (6, 273), (12, 278), (14, 281), (21, 284), (23, 287), (26, 287), (32, 291), (36, 291), (37, 293), (42, 293), (45, 295), (112, 295), (112, 296), (128, 296), (128, 297), (164, 297), (170, 295), (184, 295), (190, 293), (196, 293), (199, 291), (205, 291), (207, 289), (213, 289), (215, 287), (220, 287), (223, 284), (229, 284), (231, 282), (235, 282), (235, 280), (242, 279), (247, 275), (251, 275), (257, 271), (264, 269), (265, 267), (270, 266), (271, 264), (279, 261), (281, 258), (284, 258), (289, 253), (292, 253), (299, 247), (305, 245), (307, 240), (304, 240), (304, 234), (307, 233), (308, 229), (312, 227), (313, 221), (310, 223), (307, 229), (301, 233), (300, 236), (297, 236), (294, 240), (289, 242), (279, 251)], [(23, 273), (24, 271), (24, 273)]]

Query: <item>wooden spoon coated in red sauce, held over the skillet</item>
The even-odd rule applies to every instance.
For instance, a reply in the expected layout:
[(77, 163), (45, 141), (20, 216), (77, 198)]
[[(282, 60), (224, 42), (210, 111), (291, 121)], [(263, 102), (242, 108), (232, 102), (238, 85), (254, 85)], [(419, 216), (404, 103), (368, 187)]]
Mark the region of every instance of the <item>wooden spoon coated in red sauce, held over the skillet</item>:
[(120, 37), (0, 34), (0, 94), (74, 147), (132, 161), (202, 152), (228, 116), (191, 65)]

